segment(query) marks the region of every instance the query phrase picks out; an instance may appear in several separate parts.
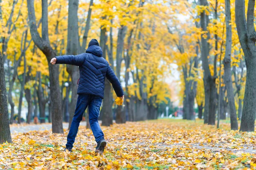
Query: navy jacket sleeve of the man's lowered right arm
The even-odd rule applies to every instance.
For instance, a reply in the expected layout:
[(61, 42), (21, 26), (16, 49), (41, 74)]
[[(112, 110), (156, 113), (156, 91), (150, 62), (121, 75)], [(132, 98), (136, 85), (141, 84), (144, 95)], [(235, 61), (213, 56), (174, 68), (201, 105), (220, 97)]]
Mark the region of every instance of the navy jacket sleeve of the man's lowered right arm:
[(109, 80), (109, 82), (111, 82), (111, 84), (114, 88), (114, 91), (116, 92), (116, 96), (118, 96), (118, 97), (123, 96), (124, 92), (122, 90), (121, 83), (119, 82), (118, 78), (116, 77), (116, 74), (114, 73), (114, 71), (112, 70), (110, 65), (108, 65), (106, 77)]

